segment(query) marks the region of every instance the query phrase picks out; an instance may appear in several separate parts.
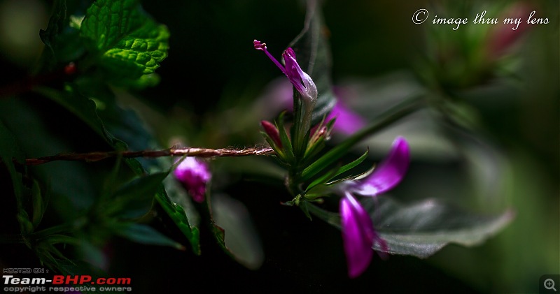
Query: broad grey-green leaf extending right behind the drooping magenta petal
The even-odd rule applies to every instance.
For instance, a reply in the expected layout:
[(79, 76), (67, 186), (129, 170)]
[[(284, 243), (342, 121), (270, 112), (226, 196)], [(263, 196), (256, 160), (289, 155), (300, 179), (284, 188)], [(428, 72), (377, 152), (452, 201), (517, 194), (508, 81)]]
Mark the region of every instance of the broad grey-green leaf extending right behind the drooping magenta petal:
[[(449, 243), (480, 244), (514, 217), (511, 210), (480, 215), (435, 199), (403, 204), (389, 197), (366, 198), (363, 207), (389, 247), (388, 253), (427, 258)], [(374, 247), (382, 250), (380, 247)]]

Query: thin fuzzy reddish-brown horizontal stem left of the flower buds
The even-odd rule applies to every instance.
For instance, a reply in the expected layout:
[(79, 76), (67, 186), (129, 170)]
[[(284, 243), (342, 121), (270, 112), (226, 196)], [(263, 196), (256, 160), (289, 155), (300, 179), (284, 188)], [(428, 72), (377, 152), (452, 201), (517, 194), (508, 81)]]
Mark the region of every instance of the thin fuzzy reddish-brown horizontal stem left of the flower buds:
[(109, 151), (109, 152), (89, 152), (89, 153), (60, 153), (52, 156), (43, 156), (36, 159), (25, 159), (27, 166), (37, 166), (51, 161), (85, 161), (93, 162), (111, 157), (163, 157), (163, 156), (195, 156), (195, 157), (237, 157), (251, 155), (272, 155), (272, 148), (246, 148), (246, 149), (209, 149), (209, 148), (169, 148), (162, 150), (142, 150), (142, 151)]

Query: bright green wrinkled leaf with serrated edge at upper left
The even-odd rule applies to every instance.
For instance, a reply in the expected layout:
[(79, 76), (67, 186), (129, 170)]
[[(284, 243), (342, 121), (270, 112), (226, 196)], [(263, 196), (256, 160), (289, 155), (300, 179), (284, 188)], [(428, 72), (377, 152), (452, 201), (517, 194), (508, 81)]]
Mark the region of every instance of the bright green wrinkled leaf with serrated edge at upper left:
[(169, 31), (141, 9), (137, 0), (98, 0), (80, 27), (87, 48), (109, 73), (112, 83), (153, 85), (154, 73), (167, 57)]

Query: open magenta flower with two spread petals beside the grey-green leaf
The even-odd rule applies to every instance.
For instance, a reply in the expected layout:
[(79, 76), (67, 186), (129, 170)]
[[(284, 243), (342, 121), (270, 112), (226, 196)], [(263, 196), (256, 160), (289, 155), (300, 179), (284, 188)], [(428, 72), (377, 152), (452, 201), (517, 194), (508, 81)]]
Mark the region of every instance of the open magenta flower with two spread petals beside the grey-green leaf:
[(387, 158), (371, 175), (344, 186), (344, 197), (340, 200), (339, 210), (349, 277), (358, 277), (367, 269), (373, 257), (374, 244), (388, 249), (385, 241), (375, 232), (370, 216), (352, 194), (377, 196), (392, 189), (405, 176), (409, 161), (408, 143), (405, 138), (398, 137)]

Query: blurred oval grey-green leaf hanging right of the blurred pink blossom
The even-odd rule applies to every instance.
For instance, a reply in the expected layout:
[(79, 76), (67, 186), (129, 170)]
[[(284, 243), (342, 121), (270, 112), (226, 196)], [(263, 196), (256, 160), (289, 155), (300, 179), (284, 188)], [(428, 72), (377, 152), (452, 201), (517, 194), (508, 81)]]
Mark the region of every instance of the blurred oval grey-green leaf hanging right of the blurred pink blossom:
[(224, 194), (213, 195), (210, 204), (218, 244), (241, 265), (258, 269), (265, 253), (245, 205)]

